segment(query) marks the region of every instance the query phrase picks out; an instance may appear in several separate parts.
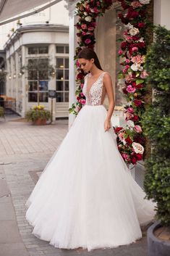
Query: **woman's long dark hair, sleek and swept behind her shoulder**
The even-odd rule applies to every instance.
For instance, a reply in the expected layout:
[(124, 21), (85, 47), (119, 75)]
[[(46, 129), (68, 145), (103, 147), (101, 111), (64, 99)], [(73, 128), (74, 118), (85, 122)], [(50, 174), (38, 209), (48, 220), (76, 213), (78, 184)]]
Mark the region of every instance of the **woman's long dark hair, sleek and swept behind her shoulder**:
[(101, 64), (98, 60), (98, 56), (97, 54), (95, 53), (95, 51), (93, 51), (92, 49), (90, 48), (84, 48), (82, 49), (78, 54), (77, 54), (77, 58), (78, 59), (94, 59), (94, 63), (95, 63), (95, 66), (99, 68), (99, 70), (102, 70), (102, 67), (101, 67)]

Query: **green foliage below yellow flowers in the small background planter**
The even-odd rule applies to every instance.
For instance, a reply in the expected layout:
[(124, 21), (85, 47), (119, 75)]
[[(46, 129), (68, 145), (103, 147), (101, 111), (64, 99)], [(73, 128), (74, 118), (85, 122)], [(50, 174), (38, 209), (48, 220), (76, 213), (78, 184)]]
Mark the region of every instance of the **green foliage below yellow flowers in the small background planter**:
[(49, 120), (51, 117), (51, 112), (49, 110), (28, 110), (26, 112), (25, 117), (27, 120), (31, 120), (32, 122), (35, 122), (35, 120), (41, 119), (41, 120)]

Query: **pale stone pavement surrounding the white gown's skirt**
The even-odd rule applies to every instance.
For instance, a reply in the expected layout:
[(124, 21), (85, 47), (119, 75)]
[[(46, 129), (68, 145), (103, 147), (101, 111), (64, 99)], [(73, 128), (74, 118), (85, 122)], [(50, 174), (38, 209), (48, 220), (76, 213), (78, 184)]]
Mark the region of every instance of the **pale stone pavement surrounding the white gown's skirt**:
[[(81, 248), (57, 249), (31, 234), (32, 227), (25, 220), (25, 202), (38, 181), (41, 171), (67, 131), (67, 120), (58, 120), (54, 125), (45, 126), (34, 126), (14, 119), (0, 121), (0, 180), (7, 181), (9, 188), (9, 193), (6, 196), (2, 193), (1, 197), (5, 199), (11, 195), (21, 236), (20, 242), (12, 241), (11, 248), (15, 249), (16, 254), (14, 250), (12, 254), (10, 248), (8, 251), (8, 247), (4, 251), (1, 250), (7, 241), (1, 242), (0, 239), (0, 256), (147, 256), (145, 234), (143, 239), (127, 246), (94, 249), (90, 252)], [(0, 215), (1, 203), (2, 201), (0, 201)]]

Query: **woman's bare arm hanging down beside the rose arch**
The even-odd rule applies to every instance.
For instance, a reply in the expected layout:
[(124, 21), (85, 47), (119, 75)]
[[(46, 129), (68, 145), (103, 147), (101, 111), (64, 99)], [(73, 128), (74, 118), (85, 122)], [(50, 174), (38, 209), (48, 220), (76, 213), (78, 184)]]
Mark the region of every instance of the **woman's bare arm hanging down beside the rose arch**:
[(108, 95), (108, 99), (109, 99), (109, 110), (107, 112), (107, 117), (104, 123), (104, 129), (105, 131), (109, 131), (109, 128), (111, 128), (111, 115), (114, 112), (114, 90), (113, 90), (113, 86), (112, 86), (112, 82), (111, 82), (111, 75), (109, 75), (109, 73), (106, 73), (103, 76), (103, 85), (106, 88), (106, 93)]

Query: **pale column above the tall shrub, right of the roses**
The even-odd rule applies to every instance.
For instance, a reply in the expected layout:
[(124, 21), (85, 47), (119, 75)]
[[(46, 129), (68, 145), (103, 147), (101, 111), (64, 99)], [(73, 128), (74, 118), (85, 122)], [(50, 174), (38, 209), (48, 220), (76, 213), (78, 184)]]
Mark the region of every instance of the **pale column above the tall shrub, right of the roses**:
[(170, 9), (169, 0), (153, 1), (154, 25), (160, 24), (161, 26), (166, 26), (167, 29), (170, 29), (169, 9)]

